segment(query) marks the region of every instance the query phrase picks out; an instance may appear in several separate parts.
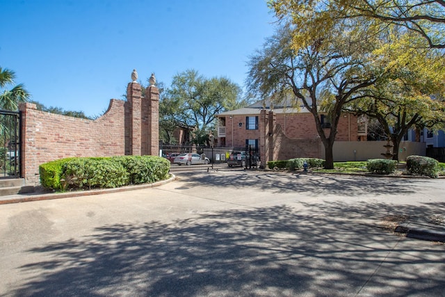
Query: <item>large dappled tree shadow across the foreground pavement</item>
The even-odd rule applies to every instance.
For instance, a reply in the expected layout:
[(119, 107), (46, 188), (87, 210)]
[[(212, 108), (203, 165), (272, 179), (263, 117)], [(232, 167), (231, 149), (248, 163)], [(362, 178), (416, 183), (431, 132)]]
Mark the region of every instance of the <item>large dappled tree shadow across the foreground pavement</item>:
[[(29, 250), (46, 261), (22, 266), (29, 280), (15, 292), (440, 296), (445, 291), (444, 245), (419, 244), (356, 220), (410, 214), (410, 206), (333, 202), (308, 207), (304, 212), (277, 206), (197, 214), (173, 223), (104, 225), (83, 239)], [(443, 210), (445, 204), (424, 204), (417, 211), (432, 214), (437, 207)]]

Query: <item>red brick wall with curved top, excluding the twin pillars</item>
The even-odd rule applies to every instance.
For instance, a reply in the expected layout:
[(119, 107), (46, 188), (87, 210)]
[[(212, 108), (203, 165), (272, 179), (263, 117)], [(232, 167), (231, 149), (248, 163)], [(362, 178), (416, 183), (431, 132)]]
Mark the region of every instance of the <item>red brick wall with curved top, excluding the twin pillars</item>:
[(42, 163), (70, 156), (124, 155), (124, 101), (111, 99), (97, 120), (84, 120), (38, 111), (35, 104), (22, 111), (22, 177), (39, 182)]

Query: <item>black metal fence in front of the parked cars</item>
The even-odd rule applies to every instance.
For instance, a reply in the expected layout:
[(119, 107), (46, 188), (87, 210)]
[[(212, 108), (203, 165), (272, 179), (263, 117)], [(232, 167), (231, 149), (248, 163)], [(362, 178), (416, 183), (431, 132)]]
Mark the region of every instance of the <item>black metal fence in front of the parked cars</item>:
[(259, 152), (254, 147), (160, 145), (160, 149), (170, 161), (170, 171), (259, 166)]

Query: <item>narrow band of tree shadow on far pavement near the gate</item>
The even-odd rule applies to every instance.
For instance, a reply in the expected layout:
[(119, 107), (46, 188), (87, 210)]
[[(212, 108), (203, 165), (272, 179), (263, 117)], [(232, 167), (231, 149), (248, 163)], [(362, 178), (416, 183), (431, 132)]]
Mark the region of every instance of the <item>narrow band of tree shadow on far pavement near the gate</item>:
[[(232, 172), (234, 173), (234, 172)], [(186, 177), (187, 186), (211, 186), (227, 188), (264, 189), (275, 193), (306, 193), (307, 195), (340, 195), (359, 196), (386, 195), (398, 193), (400, 195), (416, 193), (417, 186), (414, 179), (389, 177), (363, 177), (349, 175), (304, 175), (291, 172), (244, 172), (238, 170), (236, 174), (198, 174), (197, 172), (181, 172), (177, 177)], [(193, 178), (190, 178), (193, 177)], [(289, 179), (291, 177), (291, 179)], [(290, 181), (290, 182), (289, 182)], [(434, 184), (434, 179), (423, 179), (426, 184)]]

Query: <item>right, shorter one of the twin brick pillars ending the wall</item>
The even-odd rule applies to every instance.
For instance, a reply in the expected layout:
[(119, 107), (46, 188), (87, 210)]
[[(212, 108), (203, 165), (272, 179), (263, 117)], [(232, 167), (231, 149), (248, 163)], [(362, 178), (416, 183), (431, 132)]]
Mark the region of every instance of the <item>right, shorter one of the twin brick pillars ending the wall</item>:
[(156, 86), (147, 89), (148, 101), (148, 152), (154, 156), (159, 155), (159, 90)]

